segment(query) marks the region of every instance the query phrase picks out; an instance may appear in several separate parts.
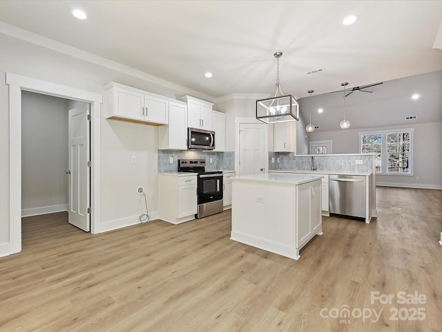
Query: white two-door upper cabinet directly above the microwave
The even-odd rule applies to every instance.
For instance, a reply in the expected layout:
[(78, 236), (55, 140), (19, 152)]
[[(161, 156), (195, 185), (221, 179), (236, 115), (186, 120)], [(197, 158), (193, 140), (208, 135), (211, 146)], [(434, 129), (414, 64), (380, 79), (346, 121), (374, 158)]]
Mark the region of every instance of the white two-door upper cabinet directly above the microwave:
[(187, 102), (187, 127), (213, 130), (211, 102), (185, 95)]

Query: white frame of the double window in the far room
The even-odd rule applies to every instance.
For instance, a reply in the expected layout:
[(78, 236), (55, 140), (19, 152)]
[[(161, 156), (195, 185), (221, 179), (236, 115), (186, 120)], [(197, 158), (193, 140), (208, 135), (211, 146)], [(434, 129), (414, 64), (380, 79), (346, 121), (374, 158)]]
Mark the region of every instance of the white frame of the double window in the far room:
[[(410, 133), (410, 151), (408, 154), (408, 172), (388, 172), (388, 151), (387, 151), (387, 134), (390, 133)], [(376, 175), (392, 175), (392, 176), (413, 176), (414, 175), (414, 128), (404, 129), (383, 129), (373, 131), (361, 131), (358, 133), (359, 137), (359, 153), (362, 151), (362, 136), (381, 134), (381, 172), (376, 172)]]

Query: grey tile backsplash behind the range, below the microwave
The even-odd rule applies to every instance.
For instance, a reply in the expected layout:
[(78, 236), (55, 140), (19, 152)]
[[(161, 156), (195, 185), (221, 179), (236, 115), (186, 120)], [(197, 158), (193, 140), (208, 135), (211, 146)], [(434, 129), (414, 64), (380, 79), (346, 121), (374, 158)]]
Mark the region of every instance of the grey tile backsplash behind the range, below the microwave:
[(158, 172), (177, 172), (179, 159), (204, 159), (207, 171), (235, 169), (234, 151), (158, 150)]

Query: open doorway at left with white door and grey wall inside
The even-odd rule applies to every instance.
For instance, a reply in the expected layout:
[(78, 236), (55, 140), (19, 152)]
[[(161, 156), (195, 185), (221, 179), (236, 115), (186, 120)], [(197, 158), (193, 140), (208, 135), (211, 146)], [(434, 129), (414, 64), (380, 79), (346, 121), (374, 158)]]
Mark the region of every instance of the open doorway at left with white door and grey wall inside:
[(90, 104), (22, 91), (21, 216), (68, 212), (90, 231)]

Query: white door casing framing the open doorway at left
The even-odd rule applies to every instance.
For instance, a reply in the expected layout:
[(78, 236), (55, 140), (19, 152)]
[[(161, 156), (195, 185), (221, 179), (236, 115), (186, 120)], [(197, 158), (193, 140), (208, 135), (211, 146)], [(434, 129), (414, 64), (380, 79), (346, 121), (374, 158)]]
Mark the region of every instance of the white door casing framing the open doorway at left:
[(79, 100), (91, 105), (91, 149), (90, 172), (92, 174), (93, 195), (90, 197), (90, 231), (99, 233), (99, 197), (100, 197), (100, 111), (103, 96), (71, 86), (64, 86), (32, 77), (25, 77), (13, 73), (6, 73), (6, 84), (9, 85), (9, 165), (10, 165), (10, 185), (9, 185), (9, 243), (6, 255), (21, 251), (21, 95), (22, 91), (31, 91), (52, 95), (55, 97), (70, 100)]

